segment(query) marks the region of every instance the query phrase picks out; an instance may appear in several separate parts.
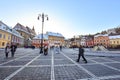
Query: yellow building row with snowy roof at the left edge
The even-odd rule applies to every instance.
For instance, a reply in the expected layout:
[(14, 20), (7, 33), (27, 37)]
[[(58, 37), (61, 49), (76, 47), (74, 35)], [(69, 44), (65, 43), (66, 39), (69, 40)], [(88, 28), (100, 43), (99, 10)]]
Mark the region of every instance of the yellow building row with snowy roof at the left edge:
[(0, 48), (5, 48), (7, 43), (14, 43), (18, 46), (22, 45), (23, 40), (24, 38), (19, 32), (0, 21)]

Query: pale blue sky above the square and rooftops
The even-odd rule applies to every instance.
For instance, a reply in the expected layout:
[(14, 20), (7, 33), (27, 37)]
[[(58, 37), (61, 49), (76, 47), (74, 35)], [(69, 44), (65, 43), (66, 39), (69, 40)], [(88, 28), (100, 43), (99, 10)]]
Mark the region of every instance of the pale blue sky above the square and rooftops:
[(46, 31), (58, 32), (66, 38), (74, 35), (95, 34), (120, 25), (120, 0), (1, 0), (0, 20), (8, 26), (16, 23), (35, 27), (41, 33), (45, 13)]

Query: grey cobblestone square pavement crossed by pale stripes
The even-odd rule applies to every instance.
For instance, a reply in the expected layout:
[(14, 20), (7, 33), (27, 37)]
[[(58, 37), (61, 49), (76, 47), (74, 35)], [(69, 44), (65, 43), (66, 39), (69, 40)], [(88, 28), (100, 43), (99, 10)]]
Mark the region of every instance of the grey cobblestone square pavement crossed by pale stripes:
[(85, 55), (86, 64), (76, 62), (73, 49), (49, 50), (46, 56), (39, 51), (19, 48), (8, 59), (0, 51), (0, 80), (120, 80), (120, 56)]

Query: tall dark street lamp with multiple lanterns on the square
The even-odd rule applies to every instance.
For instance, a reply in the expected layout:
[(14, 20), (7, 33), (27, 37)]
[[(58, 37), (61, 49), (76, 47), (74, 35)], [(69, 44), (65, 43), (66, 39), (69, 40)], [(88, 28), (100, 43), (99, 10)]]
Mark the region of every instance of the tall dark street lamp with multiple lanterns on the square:
[(48, 15), (42, 13), (38, 14), (38, 20), (40, 20), (40, 17), (42, 18), (42, 35), (41, 35), (41, 47), (40, 47), (40, 53), (43, 53), (43, 26), (44, 26), (44, 20), (48, 20)]

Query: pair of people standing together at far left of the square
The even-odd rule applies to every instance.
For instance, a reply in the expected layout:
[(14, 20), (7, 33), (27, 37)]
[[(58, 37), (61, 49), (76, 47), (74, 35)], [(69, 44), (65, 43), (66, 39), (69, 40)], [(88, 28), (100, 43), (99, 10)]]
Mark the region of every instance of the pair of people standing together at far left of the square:
[(17, 49), (17, 45), (14, 43), (7, 43), (5, 47), (5, 57), (8, 58), (8, 54), (11, 52), (11, 57), (14, 57), (15, 51)]

